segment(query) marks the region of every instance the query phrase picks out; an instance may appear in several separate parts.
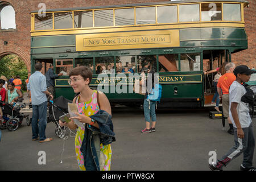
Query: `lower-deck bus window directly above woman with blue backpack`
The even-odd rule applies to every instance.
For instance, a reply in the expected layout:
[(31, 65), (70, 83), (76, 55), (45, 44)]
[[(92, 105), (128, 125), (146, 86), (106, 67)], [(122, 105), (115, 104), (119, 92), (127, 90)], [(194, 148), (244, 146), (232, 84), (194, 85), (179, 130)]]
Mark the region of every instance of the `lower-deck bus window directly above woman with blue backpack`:
[(137, 71), (140, 73), (143, 68), (156, 72), (156, 55), (137, 56)]

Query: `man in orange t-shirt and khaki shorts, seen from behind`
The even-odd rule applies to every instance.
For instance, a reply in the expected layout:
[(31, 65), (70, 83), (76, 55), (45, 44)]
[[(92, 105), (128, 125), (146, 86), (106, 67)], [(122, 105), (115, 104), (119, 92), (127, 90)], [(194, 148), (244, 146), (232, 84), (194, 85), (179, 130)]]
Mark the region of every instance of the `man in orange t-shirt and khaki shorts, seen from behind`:
[(232, 121), (229, 118), (229, 87), (236, 80), (236, 76), (234, 75), (233, 71), (236, 68), (234, 63), (228, 63), (225, 66), (226, 73), (222, 75), (218, 79), (217, 84), (217, 91), (220, 96), (220, 100), (222, 100), (222, 110), (223, 110), (223, 117), (228, 118), (229, 127), (228, 130), (229, 134), (234, 134)]

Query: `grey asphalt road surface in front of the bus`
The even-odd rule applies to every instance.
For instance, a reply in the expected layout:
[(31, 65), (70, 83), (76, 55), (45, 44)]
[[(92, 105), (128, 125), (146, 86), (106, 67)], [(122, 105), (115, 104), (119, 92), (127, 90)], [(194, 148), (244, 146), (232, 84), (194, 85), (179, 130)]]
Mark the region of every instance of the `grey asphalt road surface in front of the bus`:
[[(115, 109), (113, 123), (117, 141), (112, 144), (111, 169), (209, 171), (209, 152), (216, 150), (217, 158), (221, 158), (234, 143), (233, 135), (222, 130), (221, 119), (208, 118), (209, 111), (210, 109), (157, 110), (156, 132), (143, 134), (143, 110), (127, 107)], [(255, 121), (253, 119), (254, 136)], [(226, 123), (225, 130), (228, 128)], [(31, 126), (26, 125), (25, 119), (16, 131), (2, 130), (0, 170), (78, 170), (75, 138), (69, 134), (66, 135), (67, 140), (58, 138), (54, 123), (47, 124), (46, 135), (53, 138), (53, 141), (32, 142)], [(38, 163), (40, 151), (46, 152), (46, 164)], [(254, 151), (254, 156), (255, 154)], [(255, 159), (256, 156), (254, 164)], [(224, 170), (240, 170), (241, 162), (242, 155)]]

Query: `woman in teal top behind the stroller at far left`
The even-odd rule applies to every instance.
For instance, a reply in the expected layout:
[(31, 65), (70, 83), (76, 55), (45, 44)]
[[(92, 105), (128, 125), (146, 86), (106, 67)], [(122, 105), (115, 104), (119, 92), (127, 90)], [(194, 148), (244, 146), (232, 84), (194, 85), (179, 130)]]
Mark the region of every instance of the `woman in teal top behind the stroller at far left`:
[(6, 102), (9, 104), (14, 104), (18, 100), (18, 98), (22, 98), (23, 94), (19, 89), (15, 89), (15, 85), (13, 82), (8, 84), (8, 91), (7, 91), (7, 97)]

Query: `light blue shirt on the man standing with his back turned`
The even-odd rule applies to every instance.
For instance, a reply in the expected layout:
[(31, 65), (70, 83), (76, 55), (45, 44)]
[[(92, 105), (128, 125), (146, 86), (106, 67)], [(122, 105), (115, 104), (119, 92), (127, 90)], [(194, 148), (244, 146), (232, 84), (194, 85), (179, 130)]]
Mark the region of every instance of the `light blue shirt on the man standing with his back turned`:
[(47, 90), (46, 76), (44, 76), (41, 72), (36, 71), (30, 76), (27, 89), (31, 92), (32, 105), (40, 105), (47, 101), (46, 94), (43, 93)]

